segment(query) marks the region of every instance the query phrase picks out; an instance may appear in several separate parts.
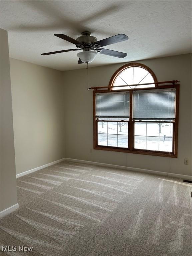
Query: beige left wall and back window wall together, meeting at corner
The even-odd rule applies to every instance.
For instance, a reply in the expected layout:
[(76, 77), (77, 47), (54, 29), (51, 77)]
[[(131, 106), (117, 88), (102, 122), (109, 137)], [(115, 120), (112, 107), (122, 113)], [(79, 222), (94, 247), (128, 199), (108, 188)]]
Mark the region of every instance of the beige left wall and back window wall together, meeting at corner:
[[(10, 59), (16, 173), (67, 157), (190, 175), (191, 55), (139, 62), (149, 66), (158, 81), (181, 80), (177, 159), (93, 150), (93, 102), (86, 69), (60, 72)], [(122, 65), (90, 65), (89, 87), (108, 85)], [(190, 159), (189, 165), (184, 158)]]

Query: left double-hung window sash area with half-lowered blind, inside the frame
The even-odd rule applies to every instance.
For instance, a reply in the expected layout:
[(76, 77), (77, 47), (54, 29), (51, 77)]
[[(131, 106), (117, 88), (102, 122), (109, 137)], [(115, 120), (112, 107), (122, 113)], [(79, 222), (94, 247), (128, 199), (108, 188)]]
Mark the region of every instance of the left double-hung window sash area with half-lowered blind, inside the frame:
[(127, 148), (130, 93), (97, 93), (95, 105), (98, 145)]

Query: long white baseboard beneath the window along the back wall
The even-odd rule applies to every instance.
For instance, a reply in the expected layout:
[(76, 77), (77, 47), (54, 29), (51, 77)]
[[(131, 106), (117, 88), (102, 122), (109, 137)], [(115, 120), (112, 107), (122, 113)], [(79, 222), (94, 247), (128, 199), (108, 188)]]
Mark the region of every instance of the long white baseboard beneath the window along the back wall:
[(160, 172), (160, 171), (147, 170), (147, 169), (128, 167), (128, 166), (122, 166), (122, 165), (115, 165), (115, 164), (104, 164), (104, 163), (91, 162), (91, 161), (79, 160), (79, 159), (73, 159), (73, 158), (65, 158), (65, 161), (71, 161), (71, 162), (77, 162), (77, 163), (85, 163), (85, 164), (93, 164), (93, 165), (99, 165), (99, 166), (119, 168), (119, 169), (124, 169), (124, 170), (129, 170), (129, 171), (151, 173), (151, 174), (156, 174), (156, 175), (163, 175), (163, 176), (170, 176), (170, 177), (175, 177), (175, 178), (191, 180), (191, 176), (190, 175), (183, 175), (183, 174), (177, 174), (177, 173)]

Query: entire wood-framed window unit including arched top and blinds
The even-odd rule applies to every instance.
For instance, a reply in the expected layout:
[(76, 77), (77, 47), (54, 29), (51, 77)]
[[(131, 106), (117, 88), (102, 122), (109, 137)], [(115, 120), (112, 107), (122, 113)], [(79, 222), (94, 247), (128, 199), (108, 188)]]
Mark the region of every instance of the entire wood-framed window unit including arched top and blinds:
[(109, 90), (93, 91), (94, 149), (177, 157), (179, 85), (155, 82), (146, 66), (129, 64), (113, 75)]

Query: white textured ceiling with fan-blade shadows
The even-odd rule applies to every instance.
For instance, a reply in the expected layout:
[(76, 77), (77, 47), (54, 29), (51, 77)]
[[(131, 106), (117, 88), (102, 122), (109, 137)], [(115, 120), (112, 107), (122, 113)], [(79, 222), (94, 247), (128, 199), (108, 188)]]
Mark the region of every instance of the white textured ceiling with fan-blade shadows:
[(1, 28), (8, 30), (10, 57), (58, 69), (84, 68), (74, 48), (54, 34), (77, 38), (91, 31), (101, 40), (119, 33), (128, 41), (105, 48), (123, 59), (98, 54), (90, 66), (191, 52), (191, 1), (1, 1)]

